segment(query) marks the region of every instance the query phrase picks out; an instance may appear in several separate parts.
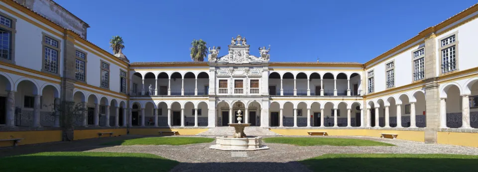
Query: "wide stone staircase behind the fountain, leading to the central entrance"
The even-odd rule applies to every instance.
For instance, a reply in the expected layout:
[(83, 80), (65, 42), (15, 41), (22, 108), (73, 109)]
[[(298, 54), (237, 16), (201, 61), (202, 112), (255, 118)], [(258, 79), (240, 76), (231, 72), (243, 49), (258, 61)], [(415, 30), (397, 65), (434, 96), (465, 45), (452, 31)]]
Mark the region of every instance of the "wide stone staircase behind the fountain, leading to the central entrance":
[[(234, 127), (215, 127), (208, 131), (197, 134), (196, 136), (232, 136), (234, 134)], [(245, 127), (244, 134), (246, 136), (281, 136), (274, 133), (267, 128), (261, 127)]]

